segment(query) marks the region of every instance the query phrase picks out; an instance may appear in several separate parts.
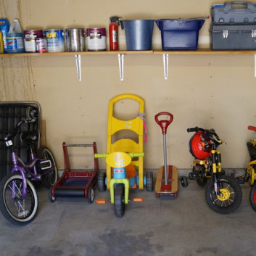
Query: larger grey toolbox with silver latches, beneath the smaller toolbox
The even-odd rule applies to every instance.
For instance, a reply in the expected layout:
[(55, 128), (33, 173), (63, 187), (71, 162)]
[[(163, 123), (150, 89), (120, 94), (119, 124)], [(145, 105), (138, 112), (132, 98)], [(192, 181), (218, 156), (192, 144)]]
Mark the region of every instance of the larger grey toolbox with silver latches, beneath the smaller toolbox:
[(255, 23), (213, 23), (210, 25), (212, 50), (255, 50)]

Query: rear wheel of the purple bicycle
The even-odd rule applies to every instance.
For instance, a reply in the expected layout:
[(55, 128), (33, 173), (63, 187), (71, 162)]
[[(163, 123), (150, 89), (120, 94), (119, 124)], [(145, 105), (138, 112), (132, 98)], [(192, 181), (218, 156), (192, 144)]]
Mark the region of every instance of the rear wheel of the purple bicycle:
[(41, 146), (38, 149), (37, 157), (44, 159), (44, 160), (50, 160), (51, 161), (51, 171), (47, 173), (47, 170), (45, 171), (46, 174), (44, 174), (44, 170), (42, 171), (42, 183), (44, 186), (49, 189), (51, 186), (54, 185), (54, 183), (57, 182), (58, 179), (58, 170), (57, 165), (54, 160), (54, 155), (51, 153), (51, 150), (46, 146)]

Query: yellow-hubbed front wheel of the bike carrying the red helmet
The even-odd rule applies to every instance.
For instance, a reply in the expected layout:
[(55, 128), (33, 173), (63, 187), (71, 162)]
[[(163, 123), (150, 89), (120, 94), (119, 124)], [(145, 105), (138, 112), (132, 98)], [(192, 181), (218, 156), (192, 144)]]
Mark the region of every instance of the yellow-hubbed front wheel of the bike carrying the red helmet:
[(207, 205), (220, 214), (234, 212), (241, 204), (242, 192), (241, 186), (235, 178), (230, 176), (220, 176), (218, 181), (220, 195), (215, 195), (213, 179), (205, 187), (205, 199)]

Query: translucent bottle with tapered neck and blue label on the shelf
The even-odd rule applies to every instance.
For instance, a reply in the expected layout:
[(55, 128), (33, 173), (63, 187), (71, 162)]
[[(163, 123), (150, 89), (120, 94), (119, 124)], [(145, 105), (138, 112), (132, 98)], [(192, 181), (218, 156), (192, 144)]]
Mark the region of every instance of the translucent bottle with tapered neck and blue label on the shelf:
[(7, 53), (19, 54), (25, 51), (23, 33), (19, 20), (13, 20), (7, 33)]

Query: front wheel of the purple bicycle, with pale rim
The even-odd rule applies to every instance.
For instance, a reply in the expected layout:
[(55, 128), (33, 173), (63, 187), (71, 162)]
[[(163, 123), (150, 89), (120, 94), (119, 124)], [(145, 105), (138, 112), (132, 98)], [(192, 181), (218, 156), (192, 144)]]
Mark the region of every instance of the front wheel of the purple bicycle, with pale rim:
[(11, 223), (30, 223), (38, 210), (38, 197), (33, 184), (27, 179), (26, 196), (22, 197), (22, 176), (10, 173), (0, 183), (0, 210)]

